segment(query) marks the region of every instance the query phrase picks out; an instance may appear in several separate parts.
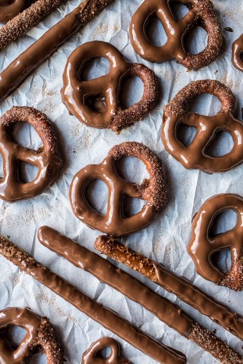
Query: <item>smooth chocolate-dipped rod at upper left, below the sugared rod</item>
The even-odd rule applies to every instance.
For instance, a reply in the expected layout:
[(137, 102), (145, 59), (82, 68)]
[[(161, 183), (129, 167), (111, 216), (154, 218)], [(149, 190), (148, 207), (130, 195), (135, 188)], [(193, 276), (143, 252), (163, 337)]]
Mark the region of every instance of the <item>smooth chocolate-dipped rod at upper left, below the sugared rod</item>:
[(32, 71), (112, 1), (85, 0), (10, 63), (0, 74), (0, 101), (15, 91)]

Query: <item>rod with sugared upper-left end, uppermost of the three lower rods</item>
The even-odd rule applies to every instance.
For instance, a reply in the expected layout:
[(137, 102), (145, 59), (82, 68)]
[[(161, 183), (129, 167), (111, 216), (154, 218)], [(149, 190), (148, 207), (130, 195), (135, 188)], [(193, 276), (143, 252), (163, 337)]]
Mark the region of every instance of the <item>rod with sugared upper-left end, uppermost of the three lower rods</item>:
[(149, 260), (145, 255), (133, 251), (107, 235), (100, 235), (97, 238), (95, 249), (143, 274), (168, 292), (176, 294), (201, 314), (208, 316), (218, 325), (243, 340), (243, 317), (202, 292), (184, 277), (174, 274), (164, 265)]

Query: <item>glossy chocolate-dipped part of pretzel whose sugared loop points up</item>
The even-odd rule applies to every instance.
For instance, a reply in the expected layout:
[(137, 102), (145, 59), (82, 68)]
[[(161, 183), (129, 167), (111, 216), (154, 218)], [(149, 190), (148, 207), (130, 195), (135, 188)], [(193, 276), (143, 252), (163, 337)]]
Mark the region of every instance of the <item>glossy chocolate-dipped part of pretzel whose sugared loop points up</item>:
[[(177, 138), (179, 123), (196, 128), (196, 135), (189, 146), (183, 145)], [(206, 148), (218, 131), (228, 132), (233, 139), (232, 150), (223, 156), (211, 156)], [(163, 123), (161, 138), (167, 151), (185, 168), (201, 169), (207, 173), (225, 172), (243, 161), (243, 123), (235, 119), (230, 112), (214, 116), (192, 114), (174, 115)]]

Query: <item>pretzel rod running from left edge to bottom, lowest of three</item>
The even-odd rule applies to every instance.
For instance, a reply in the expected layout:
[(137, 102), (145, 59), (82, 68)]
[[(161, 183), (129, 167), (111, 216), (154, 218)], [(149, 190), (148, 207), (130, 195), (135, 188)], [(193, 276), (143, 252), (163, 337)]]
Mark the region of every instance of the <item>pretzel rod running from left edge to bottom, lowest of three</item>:
[(85, 313), (97, 323), (126, 340), (141, 352), (151, 356), (159, 363), (186, 363), (186, 357), (183, 353), (149, 337), (127, 320), (118, 316), (114, 311), (100, 305), (83, 292), (77, 290), (72, 284), (35, 261), (27, 252), (18, 248), (1, 235), (0, 254), (15, 264), (21, 271), (31, 275), (36, 281), (64, 298), (79, 311)]

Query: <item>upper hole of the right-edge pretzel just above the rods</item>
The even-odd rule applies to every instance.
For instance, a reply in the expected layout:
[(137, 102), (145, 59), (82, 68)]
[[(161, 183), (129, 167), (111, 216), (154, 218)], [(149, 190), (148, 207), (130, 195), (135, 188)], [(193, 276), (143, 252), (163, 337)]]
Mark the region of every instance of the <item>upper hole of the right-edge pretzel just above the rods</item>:
[(209, 228), (209, 238), (213, 239), (215, 235), (232, 230), (237, 223), (237, 213), (232, 209), (219, 212), (212, 221)]

